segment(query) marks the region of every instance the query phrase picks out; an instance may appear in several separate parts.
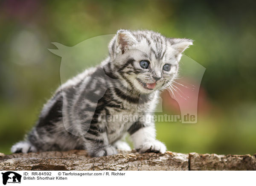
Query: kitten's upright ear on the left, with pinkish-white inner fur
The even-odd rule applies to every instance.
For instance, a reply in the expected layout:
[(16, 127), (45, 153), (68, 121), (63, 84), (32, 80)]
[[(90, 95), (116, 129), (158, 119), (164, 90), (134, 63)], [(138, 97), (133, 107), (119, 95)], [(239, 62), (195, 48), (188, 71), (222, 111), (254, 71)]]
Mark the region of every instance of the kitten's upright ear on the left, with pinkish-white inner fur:
[(136, 43), (136, 38), (131, 34), (129, 30), (121, 29), (117, 31), (116, 46), (122, 51), (122, 54), (125, 52), (125, 49)]

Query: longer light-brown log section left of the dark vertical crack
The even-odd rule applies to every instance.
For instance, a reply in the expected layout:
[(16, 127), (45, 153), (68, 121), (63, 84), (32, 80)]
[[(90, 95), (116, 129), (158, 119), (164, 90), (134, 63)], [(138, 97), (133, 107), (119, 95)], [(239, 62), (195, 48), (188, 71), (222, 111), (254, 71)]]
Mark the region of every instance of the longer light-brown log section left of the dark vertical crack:
[(88, 157), (86, 151), (11, 154), (0, 157), (0, 170), (188, 170), (188, 154), (126, 152)]

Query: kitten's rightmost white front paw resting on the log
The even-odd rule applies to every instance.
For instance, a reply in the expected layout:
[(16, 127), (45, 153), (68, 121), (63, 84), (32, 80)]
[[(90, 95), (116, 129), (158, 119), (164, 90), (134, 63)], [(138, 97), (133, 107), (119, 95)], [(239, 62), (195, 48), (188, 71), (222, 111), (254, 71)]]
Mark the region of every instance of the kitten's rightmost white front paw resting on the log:
[(155, 152), (155, 153), (165, 153), (166, 152), (166, 146), (160, 142), (160, 141), (151, 141), (151, 142), (144, 142), (143, 145), (141, 145), (138, 148), (138, 151), (140, 153), (145, 153), (145, 152)]

